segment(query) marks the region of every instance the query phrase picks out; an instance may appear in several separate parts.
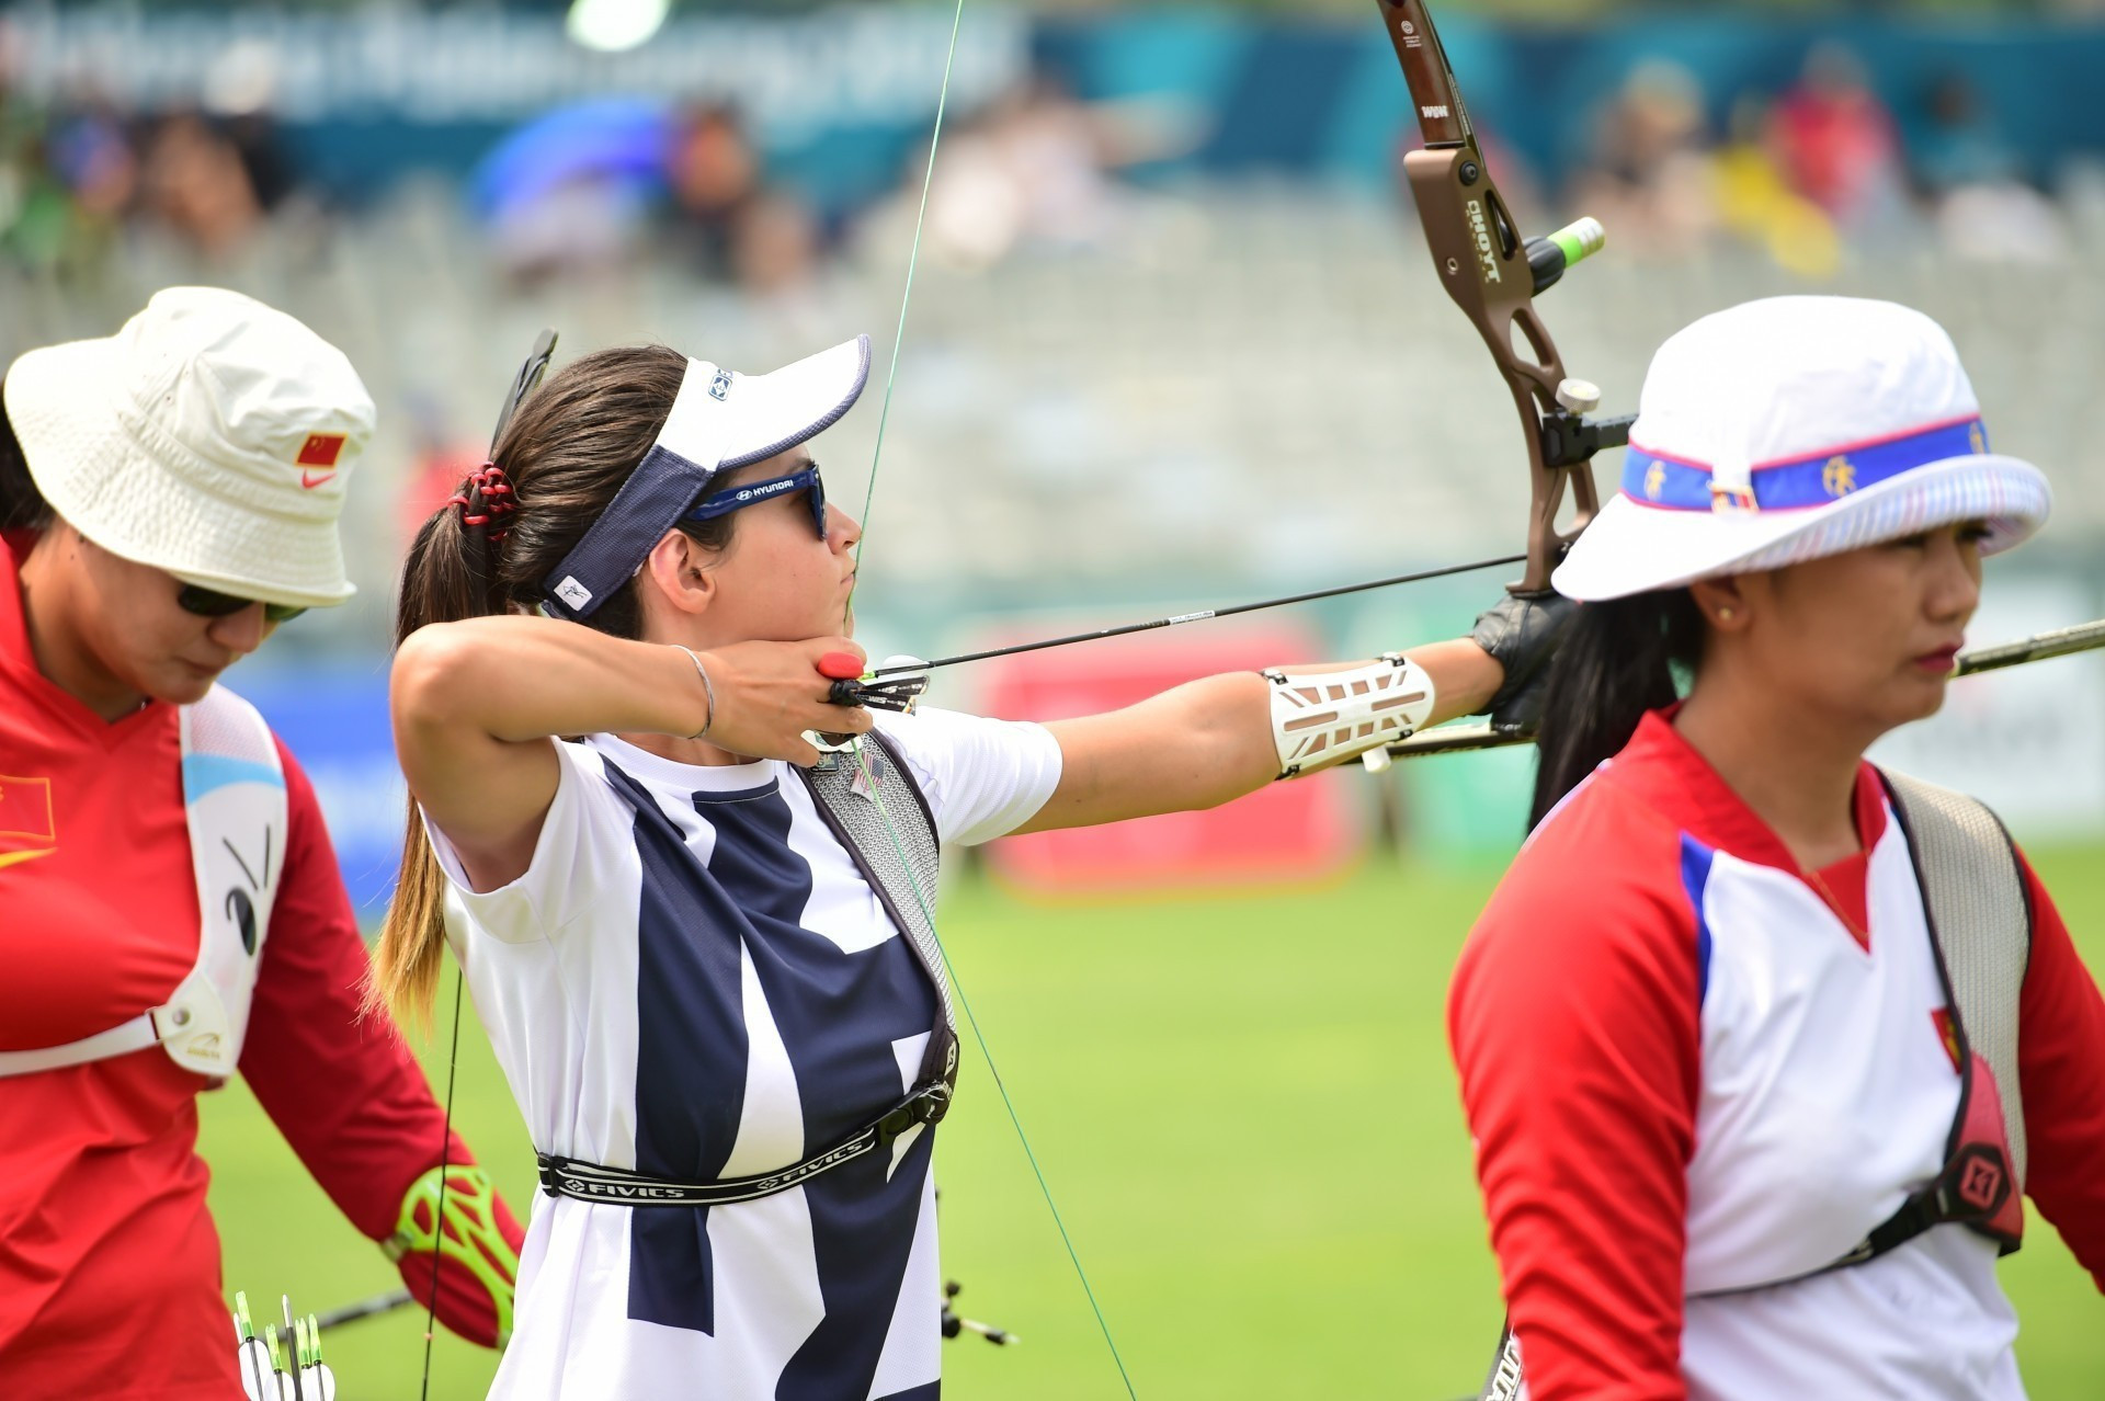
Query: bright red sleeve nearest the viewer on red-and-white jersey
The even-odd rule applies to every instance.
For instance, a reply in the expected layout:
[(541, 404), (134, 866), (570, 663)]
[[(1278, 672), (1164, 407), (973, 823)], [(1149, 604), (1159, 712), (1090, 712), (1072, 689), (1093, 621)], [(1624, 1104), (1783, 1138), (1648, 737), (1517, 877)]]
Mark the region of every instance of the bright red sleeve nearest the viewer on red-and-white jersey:
[(1671, 831), (1568, 810), (1457, 970), (1448, 1037), (1535, 1401), (1686, 1397), (1701, 972), (1678, 873)]

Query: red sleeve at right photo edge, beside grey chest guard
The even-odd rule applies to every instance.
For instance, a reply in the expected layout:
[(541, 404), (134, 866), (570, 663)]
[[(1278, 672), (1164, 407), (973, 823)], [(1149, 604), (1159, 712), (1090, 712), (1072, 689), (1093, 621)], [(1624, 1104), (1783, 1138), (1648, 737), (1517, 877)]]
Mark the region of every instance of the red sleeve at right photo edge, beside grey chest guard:
[(2025, 862), (2031, 963), (2017, 1006), (2025, 1195), (2105, 1292), (2105, 997)]

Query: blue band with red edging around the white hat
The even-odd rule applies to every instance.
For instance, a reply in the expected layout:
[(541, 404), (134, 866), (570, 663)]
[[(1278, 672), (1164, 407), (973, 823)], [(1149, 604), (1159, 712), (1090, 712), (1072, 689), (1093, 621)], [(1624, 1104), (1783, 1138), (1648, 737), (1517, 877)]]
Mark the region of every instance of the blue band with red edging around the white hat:
[(1983, 452), (1987, 452), (1987, 427), (1979, 414), (1953, 419), (1913, 433), (1764, 463), (1747, 473), (1753, 501), (1745, 501), (1720, 488), (1711, 469), (1701, 463), (1661, 456), (1629, 444), (1623, 454), (1623, 494), (1667, 511), (1713, 511), (1720, 507), (1789, 511), (1840, 501), (1926, 463)]

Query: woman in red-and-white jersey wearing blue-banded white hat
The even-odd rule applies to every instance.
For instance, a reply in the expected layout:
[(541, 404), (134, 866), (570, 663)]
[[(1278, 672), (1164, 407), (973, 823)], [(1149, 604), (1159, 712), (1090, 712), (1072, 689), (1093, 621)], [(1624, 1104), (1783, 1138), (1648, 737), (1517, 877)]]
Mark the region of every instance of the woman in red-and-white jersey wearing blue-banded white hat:
[(1661, 347), (1450, 997), (1495, 1382), (2021, 1397), (2023, 1195), (2105, 1283), (2105, 1001), (1996, 818), (1863, 759), (2048, 501), (1918, 311), (1787, 297)]

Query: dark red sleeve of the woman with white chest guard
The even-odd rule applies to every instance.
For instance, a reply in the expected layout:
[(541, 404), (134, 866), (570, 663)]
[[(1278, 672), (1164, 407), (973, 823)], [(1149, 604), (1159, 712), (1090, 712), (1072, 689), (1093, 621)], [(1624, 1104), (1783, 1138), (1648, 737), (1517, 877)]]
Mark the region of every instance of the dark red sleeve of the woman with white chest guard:
[[(278, 745), (290, 806), (284, 873), (248, 1012), (242, 1075), (322, 1191), (370, 1239), (440, 1161), (444, 1115), (385, 1018), (360, 1018), (366, 947), (307, 774)], [(474, 1161), (453, 1138), (448, 1161)]]

